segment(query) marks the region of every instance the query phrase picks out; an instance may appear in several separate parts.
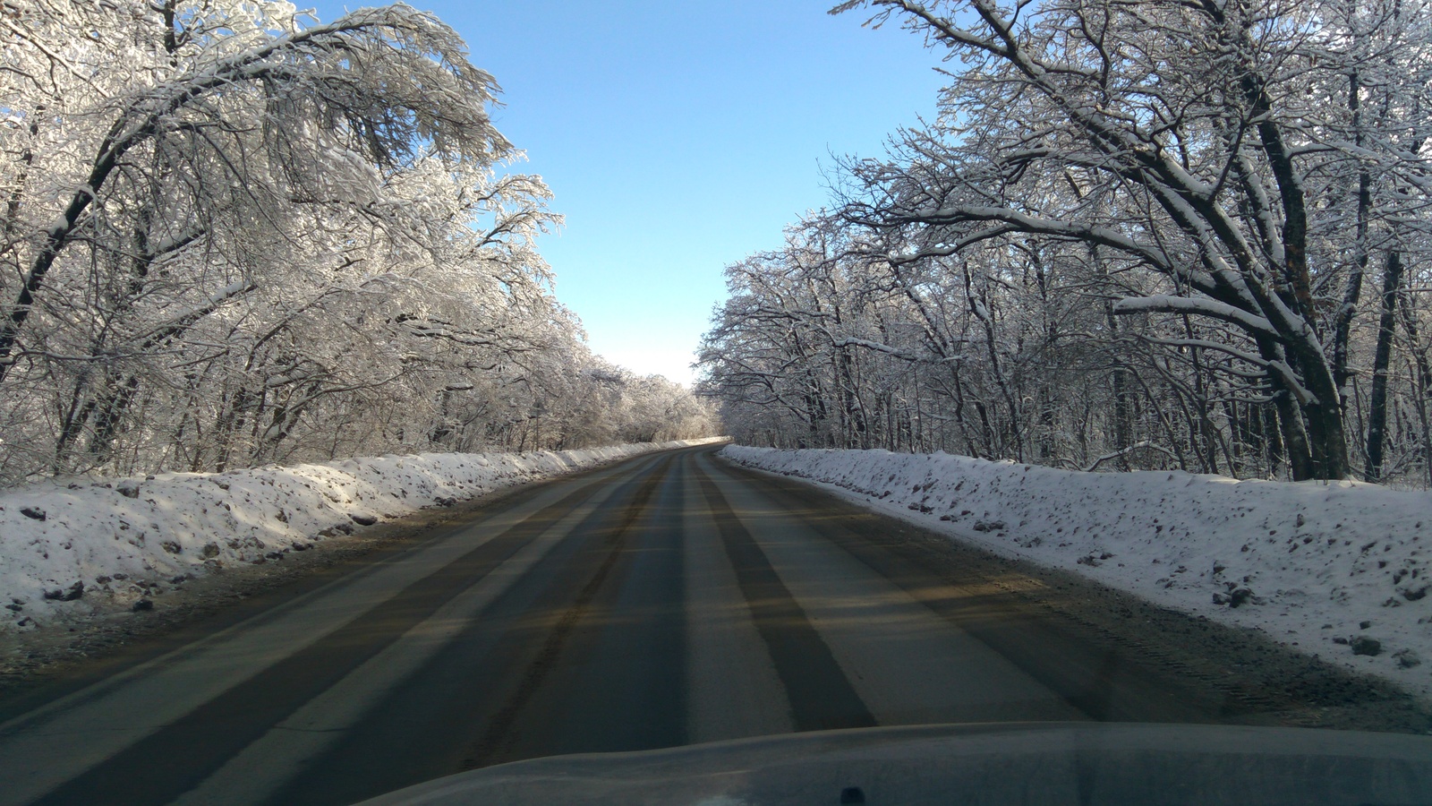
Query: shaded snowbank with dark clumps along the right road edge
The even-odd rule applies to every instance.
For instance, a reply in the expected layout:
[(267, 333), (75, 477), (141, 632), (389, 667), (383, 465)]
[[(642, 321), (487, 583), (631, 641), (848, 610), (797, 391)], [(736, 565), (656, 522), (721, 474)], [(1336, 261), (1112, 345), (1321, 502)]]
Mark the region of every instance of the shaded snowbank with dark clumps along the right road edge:
[(1432, 493), (944, 453), (722, 455), (1432, 694)]

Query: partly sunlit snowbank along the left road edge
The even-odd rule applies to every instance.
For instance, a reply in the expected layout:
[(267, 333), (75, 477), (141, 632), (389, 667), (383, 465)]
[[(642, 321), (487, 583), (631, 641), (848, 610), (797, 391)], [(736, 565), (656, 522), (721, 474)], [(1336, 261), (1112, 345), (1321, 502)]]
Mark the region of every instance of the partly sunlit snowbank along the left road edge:
[(538, 453), (422, 453), (0, 492), (0, 631), (84, 618), (226, 564), (276, 559), (355, 528), (712, 439)]

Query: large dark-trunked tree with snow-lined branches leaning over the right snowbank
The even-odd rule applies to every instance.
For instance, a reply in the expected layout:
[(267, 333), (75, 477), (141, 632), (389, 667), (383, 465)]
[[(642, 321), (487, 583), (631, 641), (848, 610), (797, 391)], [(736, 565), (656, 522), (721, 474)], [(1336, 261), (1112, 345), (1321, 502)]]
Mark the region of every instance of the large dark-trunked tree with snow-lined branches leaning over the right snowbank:
[[(874, 0), (835, 11), (858, 6), (874, 7), (876, 24), (899, 16), (964, 69), (935, 126), (905, 132), (898, 159), (855, 166), (866, 194), (851, 199), (851, 221), (915, 227), (931, 254), (1022, 234), (1124, 255), (1161, 284), (1118, 298), (1116, 314), (1187, 314), (1227, 328), (1199, 349), (1263, 373), (1293, 476), (1350, 472), (1315, 290), (1336, 287), (1327, 274), (1337, 252), (1323, 248), (1356, 234), (1322, 231), (1315, 205), (1329, 172), (1349, 162), (1423, 182), (1425, 159), (1389, 133), (1422, 125), (1425, 106), (1388, 106), (1380, 128), (1360, 119), (1348, 136), (1349, 105), (1326, 103), (1326, 90), (1346, 87), (1363, 57), (1346, 46), (1355, 30), (1339, 9)], [(1383, 13), (1383, 53), (1425, 54), (1426, 16)], [(1398, 83), (1382, 92), (1403, 103), (1426, 92), (1385, 79)], [(1389, 204), (1376, 215), (1396, 212)]]

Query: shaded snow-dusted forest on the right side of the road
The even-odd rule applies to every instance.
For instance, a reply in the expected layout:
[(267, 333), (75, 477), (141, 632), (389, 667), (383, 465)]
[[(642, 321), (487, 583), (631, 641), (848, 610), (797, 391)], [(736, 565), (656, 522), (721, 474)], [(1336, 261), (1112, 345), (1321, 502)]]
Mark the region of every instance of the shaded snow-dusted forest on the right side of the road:
[(871, 0), (938, 113), (726, 270), (746, 445), (1432, 485), (1423, 0)]

